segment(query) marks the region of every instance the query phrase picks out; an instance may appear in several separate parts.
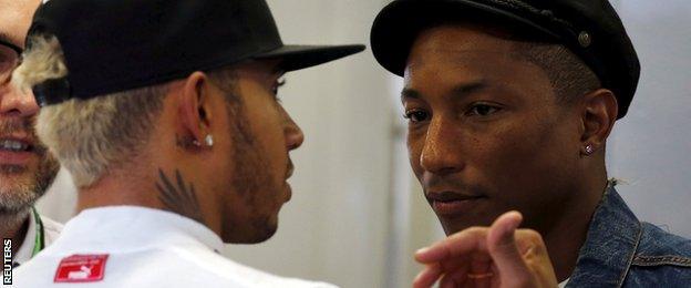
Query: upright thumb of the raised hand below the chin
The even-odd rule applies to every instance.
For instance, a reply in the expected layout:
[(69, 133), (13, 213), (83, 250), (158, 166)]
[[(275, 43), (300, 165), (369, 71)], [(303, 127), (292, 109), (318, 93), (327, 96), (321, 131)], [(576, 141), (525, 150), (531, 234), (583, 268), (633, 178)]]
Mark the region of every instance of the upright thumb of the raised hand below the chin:
[(492, 224), (487, 235), (487, 249), (504, 285), (506, 280), (520, 280), (529, 276), (514, 237), (520, 222), (520, 213), (506, 213)]

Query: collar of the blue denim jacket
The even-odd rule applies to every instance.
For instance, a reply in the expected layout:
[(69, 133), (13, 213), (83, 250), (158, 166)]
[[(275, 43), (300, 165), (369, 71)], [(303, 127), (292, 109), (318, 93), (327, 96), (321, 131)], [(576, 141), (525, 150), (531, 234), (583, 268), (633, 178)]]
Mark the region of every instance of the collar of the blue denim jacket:
[(642, 227), (613, 185), (605, 191), (567, 287), (621, 287), (631, 266)]

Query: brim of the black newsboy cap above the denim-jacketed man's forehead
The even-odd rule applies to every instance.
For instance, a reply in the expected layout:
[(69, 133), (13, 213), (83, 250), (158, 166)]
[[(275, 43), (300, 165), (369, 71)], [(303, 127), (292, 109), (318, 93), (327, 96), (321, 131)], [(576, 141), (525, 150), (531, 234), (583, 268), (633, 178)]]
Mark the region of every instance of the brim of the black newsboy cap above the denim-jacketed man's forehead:
[(403, 76), (410, 50), (422, 30), (448, 20), (484, 19), (507, 21), (514, 29), (557, 38), (539, 24), (512, 11), (467, 0), (395, 1), (377, 16), (370, 41), (377, 61), (390, 72)]

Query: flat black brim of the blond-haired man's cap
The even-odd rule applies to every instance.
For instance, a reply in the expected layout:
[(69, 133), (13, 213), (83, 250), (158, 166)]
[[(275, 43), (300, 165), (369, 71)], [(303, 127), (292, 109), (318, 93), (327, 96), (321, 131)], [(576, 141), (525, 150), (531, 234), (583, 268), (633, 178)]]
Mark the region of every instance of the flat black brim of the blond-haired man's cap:
[(295, 71), (316, 66), (364, 51), (364, 45), (283, 45), (252, 59), (280, 59), (281, 69)]

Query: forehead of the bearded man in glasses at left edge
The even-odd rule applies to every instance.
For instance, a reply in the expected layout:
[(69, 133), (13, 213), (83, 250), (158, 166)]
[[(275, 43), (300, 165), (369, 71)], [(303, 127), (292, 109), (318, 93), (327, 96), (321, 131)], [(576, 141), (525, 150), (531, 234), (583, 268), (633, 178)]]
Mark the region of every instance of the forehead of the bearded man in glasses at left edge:
[(41, 0), (0, 0), (0, 35), (24, 47), (24, 38)]

